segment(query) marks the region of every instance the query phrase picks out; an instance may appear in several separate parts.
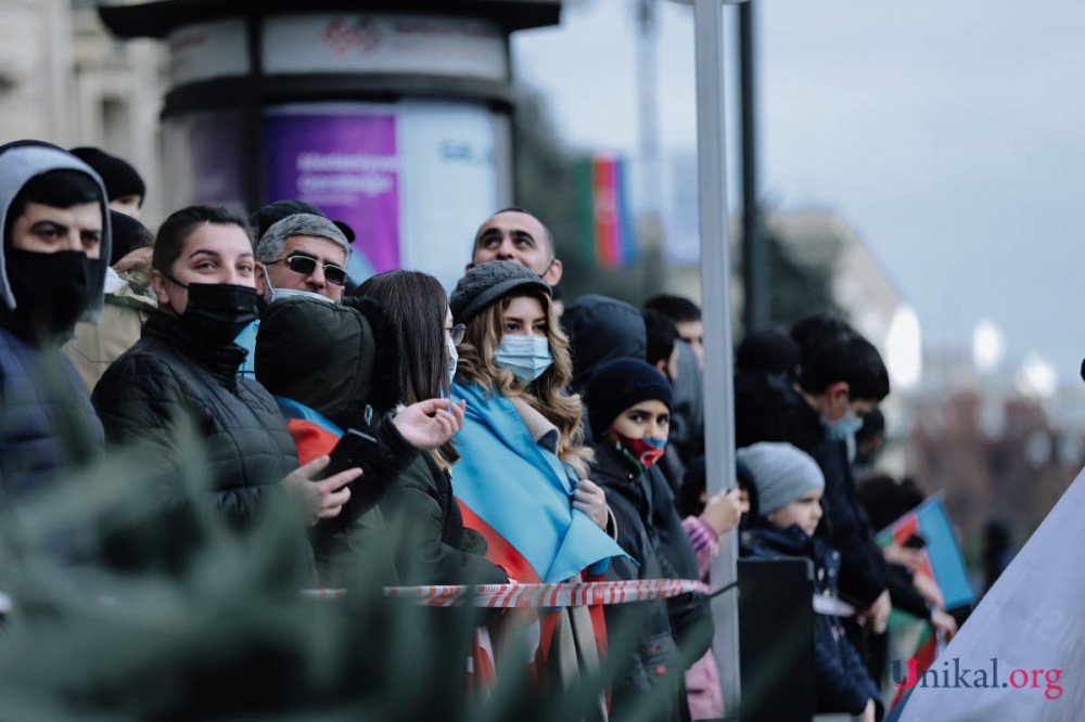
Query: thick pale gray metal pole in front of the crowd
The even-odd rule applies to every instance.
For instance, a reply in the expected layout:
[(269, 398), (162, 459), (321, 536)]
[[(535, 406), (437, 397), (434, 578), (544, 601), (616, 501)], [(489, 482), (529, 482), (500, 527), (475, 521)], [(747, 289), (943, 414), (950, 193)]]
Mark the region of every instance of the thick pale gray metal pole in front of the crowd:
[[(704, 434), (707, 491), (735, 487), (735, 410), (731, 400), (730, 242), (724, 150), (724, 9), (722, 0), (694, 0), (697, 155), (704, 319)], [(712, 564), (715, 588), (736, 580), (735, 533), (719, 540)], [(739, 710), (738, 593), (715, 597), (713, 652), (729, 717)]]

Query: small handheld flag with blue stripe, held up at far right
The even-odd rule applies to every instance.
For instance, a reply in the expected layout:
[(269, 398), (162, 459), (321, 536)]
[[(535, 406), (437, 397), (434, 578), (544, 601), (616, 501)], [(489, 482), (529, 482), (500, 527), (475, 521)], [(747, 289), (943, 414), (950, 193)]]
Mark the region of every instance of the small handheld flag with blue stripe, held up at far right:
[(878, 543), (881, 546), (893, 542), (903, 544), (912, 534), (922, 537), (927, 542), (922, 571), (937, 582), (946, 609), (971, 604), (974, 597), (968, 568), (941, 497), (931, 497), (878, 532)]

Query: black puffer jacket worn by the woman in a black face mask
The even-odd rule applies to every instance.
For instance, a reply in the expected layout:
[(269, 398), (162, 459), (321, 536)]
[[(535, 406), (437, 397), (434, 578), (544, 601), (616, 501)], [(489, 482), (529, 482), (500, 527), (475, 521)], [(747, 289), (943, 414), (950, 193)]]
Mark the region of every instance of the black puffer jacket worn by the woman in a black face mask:
[[(156, 311), (139, 343), (94, 387), (91, 400), (107, 446), (131, 444), (129, 453), (138, 454), (144, 469), (133, 489), (155, 494), (162, 505), (161, 547), (144, 551), (170, 568), (182, 562), (184, 537), (195, 531), (192, 498), (184, 488), (186, 474), (194, 468), (195, 449), (184, 441), (189, 429), (205, 444), (203, 499), (237, 531), (253, 526), (270, 497), (282, 499), (279, 482), (297, 467), (294, 441), (271, 395), (237, 375), (244, 354), (232, 344), (208, 346), (191, 337), (176, 318)], [(136, 549), (118, 551), (129, 562), (142, 556)], [(311, 554), (309, 549), (304, 555), (310, 572)]]

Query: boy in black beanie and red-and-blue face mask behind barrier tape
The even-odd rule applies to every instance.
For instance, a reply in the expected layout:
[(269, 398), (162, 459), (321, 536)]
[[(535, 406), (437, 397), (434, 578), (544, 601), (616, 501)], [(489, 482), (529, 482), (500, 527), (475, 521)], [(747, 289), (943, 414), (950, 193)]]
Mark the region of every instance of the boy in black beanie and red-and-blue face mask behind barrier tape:
[[(595, 478), (617, 521), (617, 541), (628, 559), (615, 560), (614, 579), (698, 579), (697, 557), (675, 499), (660, 472), (671, 426), (671, 385), (656, 369), (636, 359), (601, 365), (588, 382), (588, 421), (596, 440)], [(680, 694), (678, 645), (695, 645), (701, 657), (712, 637), (707, 604), (689, 595), (649, 603), (641, 609), (607, 608), (610, 634), (638, 634), (613, 691), (613, 718), (625, 719), (642, 705), (655, 705), (651, 719), (689, 719)], [(618, 645), (618, 641), (614, 641)], [(660, 694), (661, 687), (666, 694)], [(653, 694), (654, 693), (654, 694)]]

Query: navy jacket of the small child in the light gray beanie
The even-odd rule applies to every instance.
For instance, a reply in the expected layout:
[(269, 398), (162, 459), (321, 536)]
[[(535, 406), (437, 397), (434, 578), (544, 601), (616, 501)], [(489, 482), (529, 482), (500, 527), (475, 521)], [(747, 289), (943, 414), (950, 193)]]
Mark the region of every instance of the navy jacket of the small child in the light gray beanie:
[[(800, 556), (814, 562), (816, 592), (837, 593), (840, 553), (796, 525), (787, 529), (757, 526), (750, 531), (750, 555), (762, 558)], [(796, 599), (796, 604), (810, 604)], [(835, 617), (814, 616), (814, 672), (818, 713), (860, 714), (868, 699), (880, 699), (859, 654), (844, 636)]]

